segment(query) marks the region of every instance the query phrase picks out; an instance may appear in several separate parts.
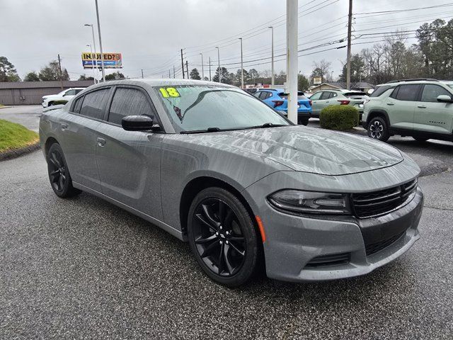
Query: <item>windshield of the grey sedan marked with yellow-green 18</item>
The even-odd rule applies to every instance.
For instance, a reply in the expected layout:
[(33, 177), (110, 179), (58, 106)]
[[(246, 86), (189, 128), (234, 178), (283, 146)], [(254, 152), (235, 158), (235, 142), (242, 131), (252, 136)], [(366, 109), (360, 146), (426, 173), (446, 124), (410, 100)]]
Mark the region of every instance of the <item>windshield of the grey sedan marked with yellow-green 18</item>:
[(262, 101), (232, 87), (175, 85), (155, 87), (154, 91), (177, 132), (291, 125)]

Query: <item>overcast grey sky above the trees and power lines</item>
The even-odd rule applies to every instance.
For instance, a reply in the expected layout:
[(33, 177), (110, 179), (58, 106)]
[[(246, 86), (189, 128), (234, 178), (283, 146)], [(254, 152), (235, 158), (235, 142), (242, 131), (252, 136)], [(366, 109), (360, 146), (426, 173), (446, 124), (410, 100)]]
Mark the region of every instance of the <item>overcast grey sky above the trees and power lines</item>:
[[(415, 30), (435, 18), (448, 20), (453, 6), (396, 13), (371, 13), (451, 4), (452, 1), (425, 0), (354, 0), (355, 40), (352, 52), (369, 47), (383, 35), (369, 33)], [(212, 60), (212, 72), (220, 62), (230, 72), (240, 67), (239, 39), (243, 37), (244, 68), (270, 69), (270, 29), (275, 30), (275, 55), (285, 53), (284, 0), (98, 0), (104, 52), (121, 52), (124, 73), (128, 77), (168, 77), (173, 65), (180, 76), (180, 48), (185, 48), (189, 69), (197, 67), (201, 74), (204, 64)], [(312, 13), (310, 13), (312, 12)], [(0, 55), (8, 57), (23, 78), (57, 59), (71, 79), (80, 74), (91, 75), (81, 65), (81, 52), (89, 52), (91, 28), (96, 24), (94, 0), (0, 0)], [(362, 14), (361, 14), (362, 13)], [(299, 0), (299, 70), (311, 73), (313, 63), (332, 62), (337, 77), (345, 60), (346, 49), (328, 50), (343, 46), (346, 38), (348, 0)], [(96, 30), (97, 39), (97, 30)], [(367, 34), (367, 35), (362, 35)], [(362, 35), (362, 36), (360, 36)], [(408, 33), (413, 37), (413, 33)], [(333, 42), (333, 45), (323, 45)], [(408, 43), (415, 39), (408, 39)], [(98, 45), (98, 43), (96, 44)], [(321, 45), (321, 46), (319, 46)], [(317, 47), (319, 46), (319, 47)], [(317, 47), (317, 48), (313, 48)], [(99, 50), (99, 45), (98, 45)], [(326, 50), (324, 52), (319, 52)], [(311, 55), (306, 55), (313, 53)], [(282, 60), (283, 59), (283, 60)], [(285, 57), (275, 63), (276, 72), (285, 70)], [(108, 71), (113, 72), (113, 71)], [(205, 67), (205, 76), (208, 75)]]

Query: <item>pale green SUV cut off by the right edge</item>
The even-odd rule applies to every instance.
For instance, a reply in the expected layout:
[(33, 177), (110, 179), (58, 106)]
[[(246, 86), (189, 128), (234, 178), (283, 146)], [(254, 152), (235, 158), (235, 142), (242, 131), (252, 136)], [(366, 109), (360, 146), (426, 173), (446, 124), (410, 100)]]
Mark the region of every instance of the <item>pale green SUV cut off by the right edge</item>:
[(406, 79), (377, 86), (365, 103), (362, 125), (369, 137), (391, 135), (424, 142), (453, 140), (453, 85), (435, 79)]

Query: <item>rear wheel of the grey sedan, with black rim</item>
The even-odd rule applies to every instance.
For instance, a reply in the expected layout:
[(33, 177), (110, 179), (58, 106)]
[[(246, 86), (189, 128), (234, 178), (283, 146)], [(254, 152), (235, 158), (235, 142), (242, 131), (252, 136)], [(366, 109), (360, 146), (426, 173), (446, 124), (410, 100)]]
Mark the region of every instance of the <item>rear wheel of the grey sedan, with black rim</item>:
[(72, 186), (67, 162), (62, 147), (58, 143), (52, 144), (47, 152), (47, 173), (50, 185), (58, 197), (68, 198), (81, 193), (79, 189)]

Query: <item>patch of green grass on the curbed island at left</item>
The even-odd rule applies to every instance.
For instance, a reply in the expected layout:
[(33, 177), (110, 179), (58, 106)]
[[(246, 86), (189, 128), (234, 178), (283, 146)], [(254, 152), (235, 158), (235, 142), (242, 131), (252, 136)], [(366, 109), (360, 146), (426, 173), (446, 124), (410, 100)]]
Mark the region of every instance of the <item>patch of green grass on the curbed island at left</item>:
[(28, 130), (21, 124), (0, 119), (0, 152), (20, 149), (38, 142), (38, 133)]

